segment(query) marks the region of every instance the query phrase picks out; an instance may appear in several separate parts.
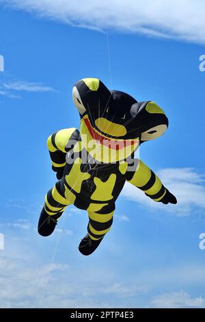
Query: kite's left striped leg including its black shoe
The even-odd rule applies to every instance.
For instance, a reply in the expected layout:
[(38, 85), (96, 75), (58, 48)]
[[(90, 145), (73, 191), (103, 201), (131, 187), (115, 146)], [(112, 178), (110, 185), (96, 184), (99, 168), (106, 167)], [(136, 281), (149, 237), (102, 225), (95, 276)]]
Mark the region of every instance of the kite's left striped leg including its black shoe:
[(40, 213), (38, 221), (38, 233), (42, 236), (49, 236), (55, 230), (57, 220), (64, 210), (74, 202), (75, 196), (69, 190), (61, 188), (60, 181), (49, 190), (45, 197), (44, 208)]

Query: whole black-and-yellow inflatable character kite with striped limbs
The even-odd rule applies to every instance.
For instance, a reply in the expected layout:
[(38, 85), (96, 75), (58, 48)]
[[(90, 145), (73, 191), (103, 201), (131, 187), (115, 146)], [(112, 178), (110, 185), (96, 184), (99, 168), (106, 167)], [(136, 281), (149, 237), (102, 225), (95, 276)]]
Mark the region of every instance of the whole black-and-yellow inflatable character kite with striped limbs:
[(66, 207), (74, 204), (89, 216), (79, 251), (90, 255), (110, 230), (115, 201), (125, 182), (154, 201), (177, 202), (159, 177), (134, 156), (141, 143), (165, 132), (168, 119), (153, 101), (137, 102), (96, 78), (77, 82), (72, 97), (81, 117), (80, 132), (61, 129), (47, 140), (59, 181), (46, 194), (38, 232), (51, 235)]

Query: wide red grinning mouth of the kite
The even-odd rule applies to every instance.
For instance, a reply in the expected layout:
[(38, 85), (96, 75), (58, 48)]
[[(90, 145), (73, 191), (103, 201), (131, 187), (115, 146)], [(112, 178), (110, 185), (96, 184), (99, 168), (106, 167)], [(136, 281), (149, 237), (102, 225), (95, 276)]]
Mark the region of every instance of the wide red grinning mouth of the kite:
[(134, 145), (137, 143), (137, 140), (113, 140), (111, 138), (106, 138), (105, 136), (100, 135), (99, 133), (95, 132), (93, 127), (90, 124), (88, 119), (83, 119), (85, 125), (90, 132), (90, 135), (94, 140), (100, 142), (100, 144), (104, 145), (105, 147), (109, 147), (110, 149), (120, 150), (124, 147), (128, 147), (130, 145)]

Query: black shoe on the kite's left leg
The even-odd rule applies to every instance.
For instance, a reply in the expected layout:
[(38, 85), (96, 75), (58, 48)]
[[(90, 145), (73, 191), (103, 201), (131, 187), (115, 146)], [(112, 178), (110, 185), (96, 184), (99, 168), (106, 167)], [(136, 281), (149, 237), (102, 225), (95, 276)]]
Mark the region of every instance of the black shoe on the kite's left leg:
[(59, 212), (58, 214), (49, 216), (49, 214), (46, 213), (44, 208), (42, 208), (40, 218), (38, 221), (38, 234), (44, 237), (50, 236), (55, 230), (55, 226), (57, 225), (57, 219), (61, 216), (61, 214), (62, 212)]

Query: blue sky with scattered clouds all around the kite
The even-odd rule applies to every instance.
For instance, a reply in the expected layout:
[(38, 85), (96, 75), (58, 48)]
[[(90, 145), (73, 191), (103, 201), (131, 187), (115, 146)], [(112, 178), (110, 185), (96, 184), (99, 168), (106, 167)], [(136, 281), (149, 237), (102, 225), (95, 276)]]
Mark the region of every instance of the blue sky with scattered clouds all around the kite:
[[(205, 251), (198, 246), (205, 232), (200, 10), (197, 27), (177, 10), (161, 25), (160, 10), (155, 18), (143, 10), (151, 26), (145, 32), (142, 23), (126, 25), (120, 9), (113, 23), (101, 10), (103, 25), (89, 1), (93, 19), (66, 1), (55, 10), (53, 3), (0, 1), (0, 307), (205, 307)], [(132, 21), (132, 12), (124, 14)], [(145, 143), (140, 157), (178, 197), (177, 206), (163, 206), (125, 186), (111, 231), (88, 258), (77, 249), (86, 212), (71, 206), (50, 238), (36, 232), (44, 195), (55, 183), (46, 138), (79, 127), (71, 92), (83, 77), (98, 77), (165, 110), (168, 131)]]

